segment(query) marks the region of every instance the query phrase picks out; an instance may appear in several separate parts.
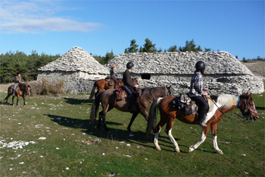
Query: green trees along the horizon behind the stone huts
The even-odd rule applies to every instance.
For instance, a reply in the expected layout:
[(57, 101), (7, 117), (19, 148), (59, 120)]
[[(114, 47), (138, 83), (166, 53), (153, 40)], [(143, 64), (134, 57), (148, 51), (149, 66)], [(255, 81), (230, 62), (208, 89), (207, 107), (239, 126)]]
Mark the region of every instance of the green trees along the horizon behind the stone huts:
[[(186, 40), (185, 46), (177, 47), (172, 45), (169, 48), (162, 50), (157, 49), (155, 44), (148, 38), (146, 38), (143, 46), (136, 44), (136, 40), (131, 40), (129, 47), (124, 50), (124, 53), (135, 53), (135, 52), (212, 52), (211, 48), (204, 47), (201, 49), (200, 45), (196, 45), (194, 40)], [(90, 55), (92, 55), (90, 53)], [(42, 53), (39, 55), (35, 50), (30, 55), (26, 55), (24, 52), (6, 52), (6, 54), (0, 55), (0, 83), (10, 83), (14, 81), (14, 77), (20, 72), (24, 80), (36, 80), (37, 69), (44, 67), (49, 62), (61, 57), (60, 55), (46, 55)], [(93, 57), (100, 62), (100, 64), (106, 64), (115, 57), (113, 51), (107, 52), (105, 56), (93, 55)], [(237, 57), (237, 56), (236, 56)], [(244, 62), (250, 60), (264, 61), (265, 58), (257, 57), (254, 59), (243, 58)]]

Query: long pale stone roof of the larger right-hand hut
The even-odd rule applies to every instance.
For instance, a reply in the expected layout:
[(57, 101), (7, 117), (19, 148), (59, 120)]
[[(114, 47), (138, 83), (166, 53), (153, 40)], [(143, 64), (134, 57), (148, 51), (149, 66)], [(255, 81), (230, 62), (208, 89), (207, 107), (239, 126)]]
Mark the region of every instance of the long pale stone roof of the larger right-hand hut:
[(105, 67), (115, 64), (116, 72), (122, 73), (126, 63), (133, 62), (135, 74), (194, 74), (199, 60), (206, 63), (205, 74), (254, 75), (228, 52), (138, 52), (114, 57)]

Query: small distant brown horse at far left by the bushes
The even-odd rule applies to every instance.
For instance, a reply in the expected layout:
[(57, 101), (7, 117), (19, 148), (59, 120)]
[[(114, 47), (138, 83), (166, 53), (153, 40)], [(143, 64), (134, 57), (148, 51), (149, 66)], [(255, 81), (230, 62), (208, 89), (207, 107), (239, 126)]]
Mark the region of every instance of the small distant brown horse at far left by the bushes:
[[(7, 96), (4, 99), (4, 100), (6, 100), (6, 104), (7, 104), (9, 96), (11, 96), (13, 94), (13, 86), (14, 86), (13, 84), (11, 86), (8, 86)], [(22, 98), (24, 100), (24, 105), (25, 105), (25, 96), (30, 95), (30, 85), (18, 84), (18, 91), (15, 92), (15, 95), (17, 96), (16, 105), (18, 105), (18, 99), (20, 96), (22, 96)], [(15, 96), (12, 97), (12, 105), (14, 105), (14, 98), (15, 98)]]

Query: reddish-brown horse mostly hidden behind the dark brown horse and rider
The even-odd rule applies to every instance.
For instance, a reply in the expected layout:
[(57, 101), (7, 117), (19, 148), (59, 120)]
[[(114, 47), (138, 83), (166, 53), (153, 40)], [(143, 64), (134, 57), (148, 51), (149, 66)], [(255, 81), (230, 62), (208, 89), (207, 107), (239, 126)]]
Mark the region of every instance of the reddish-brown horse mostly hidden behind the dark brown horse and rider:
[[(137, 80), (137, 78), (132, 79), (133, 83)], [(119, 86), (124, 86), (123, 81), (119, 83)], [(98, 89), (98, 91), (95, 93), (95, 89)], [(92, 100), (93, 96), (97, 96), (98, 93), (100, 93), (103, 90), (107, 90), (107, 89), (114, 89), (114, 86), (109, 86), (109, 84), (107, 83), (106, 79), (100, 79), (98, 81), (95, 81), (93, 88), (91, 90), (90, 96), (89, 96), (89, 100)]]

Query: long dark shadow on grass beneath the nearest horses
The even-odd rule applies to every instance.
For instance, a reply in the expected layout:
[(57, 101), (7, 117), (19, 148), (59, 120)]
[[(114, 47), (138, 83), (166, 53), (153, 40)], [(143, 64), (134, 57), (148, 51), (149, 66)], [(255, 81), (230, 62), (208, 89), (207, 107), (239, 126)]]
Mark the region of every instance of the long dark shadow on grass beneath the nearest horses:
[[(88, 135), (93, 135), (101, 139), (105, 138), (105, 139), (112, 139), (114, 141), (119, 141), (119, 142), (124, 141), (126, 143), (139, 144), (143, 147), (155, 149), (154, 145), (150, 145), (150, 142), (153, 142), (154, 135), (151, 135), (150, 137), (146, 137), (146, 132), (136, 131), (130, 134), (127, 130), (120, 130), (116, 128), (114, 129), (112, 127), (108, 127), (110, 132), (106, 132), (103, 125), (100, 126), (99, 130), (95, 129), (95, 126), (98, 124), (98, 121), (90, 122), (90, 120), (81, 120), (81, 119), (76, 119), (76, 118), (64, 117), (60, 115), (50, 115), (50, 114), (45, 114), (45, 115), (47, 115), (49, 118), (52, 118), (51, 120), (53, 122), (56, 122), (58, 125), (65, 126), (65, 127), (71, 127), (75, 129), (81, 129), (81, 132), (84, 132)], [(107, 125), (122, 125), (122, 124), (117, 123), (117, 122), (107, 121)], [(180, 139), (175, 138), (175, 140), (179, 141)], [(172, 144), (168, 136), (160, 136), (158, 138), (158, 141), (160, 142), (160, 146), (162, 147), (163, 151), (175, 152), (174, 145)], [(165, 147), (169, 147), (170, 149), (168, 148), (166, 149)], [(179, 144), (179, 147), (187, 147), (187, 146)], [(180, 148), (180, 149), (182, 153), (189, 153), (188, 148), (189, 147), (187, 147), (187, 151), (183, 151), (184, 148)], [(196, 150), (203, 151), (203, 152), (216, 153), (214, 151), (206, 151), (204, 149), (196, 149)]]

